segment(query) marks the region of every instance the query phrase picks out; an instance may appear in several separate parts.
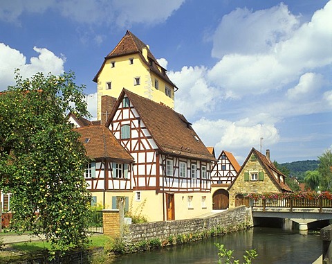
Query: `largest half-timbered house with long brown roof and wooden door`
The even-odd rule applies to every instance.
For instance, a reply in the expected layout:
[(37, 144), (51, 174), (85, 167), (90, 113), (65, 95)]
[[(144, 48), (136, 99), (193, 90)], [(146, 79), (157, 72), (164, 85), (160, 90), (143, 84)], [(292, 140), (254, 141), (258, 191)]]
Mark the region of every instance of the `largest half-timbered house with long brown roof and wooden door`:
[(134, 159), (133, 211), (144, 204), (142, 213), (156, 221), (212, 210), (215, 158), (182, 114), (123, 89), (106, 126)]

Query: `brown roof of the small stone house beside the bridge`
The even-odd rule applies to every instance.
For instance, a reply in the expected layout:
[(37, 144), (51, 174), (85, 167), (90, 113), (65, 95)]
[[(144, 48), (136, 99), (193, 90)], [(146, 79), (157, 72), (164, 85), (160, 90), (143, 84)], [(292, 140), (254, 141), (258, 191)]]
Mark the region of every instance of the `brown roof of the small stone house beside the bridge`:
[(237, 177), (234, 179), (232, 184), (230, 184), (228, 189), (232, 188), (234, 182), (237, 181), (237, 178), (239, 177), (239, 175), (240, 175), (241, 171), (243, 170), (243, 168), (245, 168), (245, 166), (246, 166), (248, 160), (250, 159), (252, 153), (255, 154), (255, 156), (257, 157), (257, 160), (259, 161), (259, 164), (261, 164), (261, 166), (264, 168), (264, 170), (265, 170), (266, 174), (268, 175), (268, 177), (270, 178), (270, 180), (275, 184), (275, 186), (277, 186), (277, 188), (280, 191), (292, 191), (292, 189), (286, 183), (277, 181), (277, 179), (275, 178), (274, 173), (277, 173), (277, 175), (281, 176), (281, 177), (286, 177), (286, 175), (284, 175), (282, 172), (280, 172), (275, 167), (275, 164), (273, 164), (273, 162), (271, 162), (268, 158), (266, 158), (266, 156), (261, 154), (261, 152), (259, 152), (255, 148), (252, 148), (252, 150), (250, 151), (248, 157), (243, 162), (243, 165), (241, 166), (241, 169), (239, 170), (239, 173), (237, 173)]

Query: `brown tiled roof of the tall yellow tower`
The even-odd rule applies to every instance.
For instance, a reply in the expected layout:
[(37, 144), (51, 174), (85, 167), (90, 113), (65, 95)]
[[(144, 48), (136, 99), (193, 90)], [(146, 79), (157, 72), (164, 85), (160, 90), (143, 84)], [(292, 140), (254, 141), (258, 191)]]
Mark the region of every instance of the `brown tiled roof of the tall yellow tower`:
[[(147, 49), (147, 57), (149, 61), (147, 61), (142, 55), (143, 49)], [(126, 34), (124, 35), (124, 37), (122, 37), (122, 39), (120, 40), (118, 45), (116, 45), (116, 47), (113, 49), (113, 51), (111, 51), (104, 58), (102, 67), (100, 67), (100, 70), (95, 75), (95, 78), (93, 78), (93, 81), (98, 82), (98, 76), (102, 71), (102, 68), (104, 67), (104, 64), (106, 63), (107, 60), (135, 53), (138, 53), (140, 55), (140, 58), (142, 59), (143, 62), (145, 62), (147, 67), (149, 67), (150, 71), (154, 72), (159, 78), (163, 79), (165, 82), (168, 82), (169, 85), (172, 85), (172, 87), (176, 87), (176, 85), (174, 85), (174, 83), (171, 80), (169, 80), (168, 76), (166, 75), (167, 70), (160, 66), (156, 58), (154, 58), (154, 55), (151, 53), (147, 44), (142, 42), (142, 40), (136, 37), (136, 35), (133, 35), (133, 33), (131, 33), (129, 30), (127, 30)], [(158, 68), (162, 69), (162, 72), (160, 72)]]

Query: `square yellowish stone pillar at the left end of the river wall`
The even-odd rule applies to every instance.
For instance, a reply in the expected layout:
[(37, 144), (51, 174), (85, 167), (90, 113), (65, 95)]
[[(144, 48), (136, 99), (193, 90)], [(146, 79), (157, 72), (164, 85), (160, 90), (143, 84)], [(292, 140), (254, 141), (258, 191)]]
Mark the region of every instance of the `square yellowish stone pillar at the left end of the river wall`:
[(119, 210), (102, 210), (102, 226), (104, 234), (113, 238), (120, 238), (120, 212)]

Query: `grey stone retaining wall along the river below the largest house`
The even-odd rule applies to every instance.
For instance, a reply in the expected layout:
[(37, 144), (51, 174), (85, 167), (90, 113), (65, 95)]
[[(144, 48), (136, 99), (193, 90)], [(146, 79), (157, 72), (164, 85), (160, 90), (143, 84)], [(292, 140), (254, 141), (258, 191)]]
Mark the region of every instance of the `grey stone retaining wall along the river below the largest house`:
[(176, 239), (180, 236), (189, 236), (198, 240), (248, 227), (252, 227), (251, 209), (239, 206), (206, 218), (126, 225), (122, 234), (122, 243), (132, 245), (144, 240), (158, 239), (164, 244), (167, 240), (169, 242), (170, 238)]

